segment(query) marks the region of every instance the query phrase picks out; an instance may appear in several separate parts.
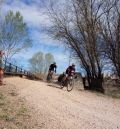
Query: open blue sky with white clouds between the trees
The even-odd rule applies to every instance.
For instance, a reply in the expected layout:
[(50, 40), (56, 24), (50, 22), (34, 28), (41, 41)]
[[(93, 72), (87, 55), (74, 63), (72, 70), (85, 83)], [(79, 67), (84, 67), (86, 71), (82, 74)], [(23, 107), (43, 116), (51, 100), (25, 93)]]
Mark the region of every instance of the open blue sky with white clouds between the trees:
[[(69, 64), (69, 54), (59, 41), (51, 39), (44, 31), (44, 27), (51, 25), (49, 18), (45, 14), (43, 0), (6, 0), (2, 11), (20, 11), (24, 21), (30, 29), (30, 36), (33, 40), (33, 47), (14, 56), (20, 61), (20, 65), (28, 68), (28, 60), (36, 52), (52, 53), (58, 64), (58, 72), (63, 72)], [(73, 63), (74, 61), (71, 61)]]

